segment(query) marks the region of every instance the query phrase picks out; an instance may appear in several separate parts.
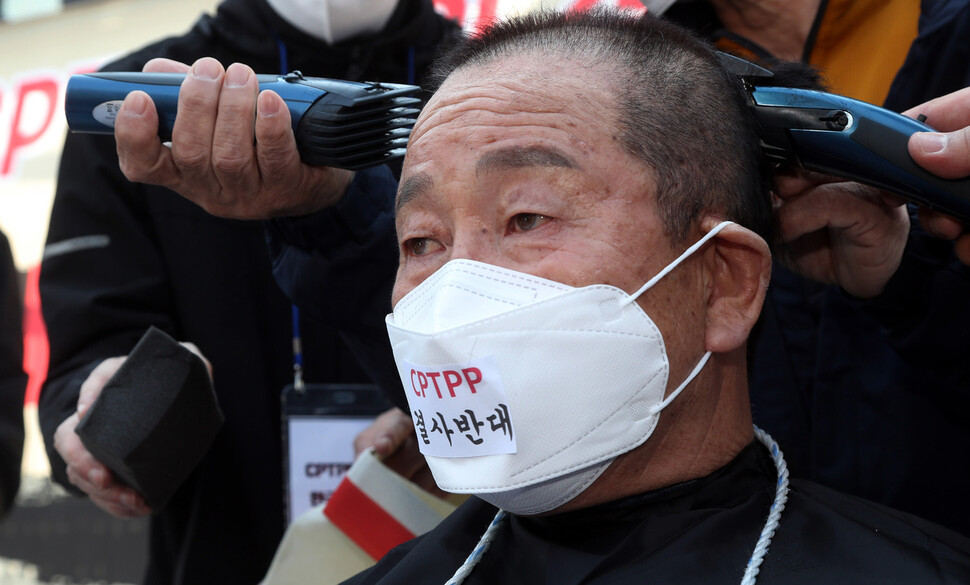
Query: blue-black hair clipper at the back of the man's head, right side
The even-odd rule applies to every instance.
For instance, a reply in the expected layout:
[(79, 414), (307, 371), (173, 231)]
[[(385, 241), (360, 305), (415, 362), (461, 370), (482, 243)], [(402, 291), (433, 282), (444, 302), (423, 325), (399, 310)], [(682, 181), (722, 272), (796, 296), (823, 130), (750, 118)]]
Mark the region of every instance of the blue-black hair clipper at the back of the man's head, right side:
[(970, 222), (970, 178), (941, 179), (909, 155), (909, 137), (933, 131), (922, 119), (823, 91), (759, 84), (772, 73), (719, 55), (745, 83), (770, 158), (872, 185)]

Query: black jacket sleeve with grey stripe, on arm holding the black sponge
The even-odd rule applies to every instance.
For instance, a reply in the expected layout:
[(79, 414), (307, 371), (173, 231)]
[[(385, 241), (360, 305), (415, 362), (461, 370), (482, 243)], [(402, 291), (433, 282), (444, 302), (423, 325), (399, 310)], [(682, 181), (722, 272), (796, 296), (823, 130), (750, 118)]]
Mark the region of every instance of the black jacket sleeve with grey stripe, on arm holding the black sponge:
[(114, 150), (110, 136), (68, 135), (41, 264), (50, 365), (38, 414), (53, 475), (65, 487), (53, 436), (75, 411), (81, 384), (104, 359), (127, 355), (149, 325), (172, 333), (145, 193), (121, 174)]

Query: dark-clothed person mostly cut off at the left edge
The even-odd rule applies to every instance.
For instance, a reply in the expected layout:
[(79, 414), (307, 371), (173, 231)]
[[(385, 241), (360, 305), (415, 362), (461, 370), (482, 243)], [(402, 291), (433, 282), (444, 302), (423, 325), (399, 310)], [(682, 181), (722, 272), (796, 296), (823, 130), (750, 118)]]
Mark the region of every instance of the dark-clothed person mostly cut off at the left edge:
[(10, 511), (20, 487), (24, 452), (23, 304), (10, 242), (0, 233), (0, 516)]

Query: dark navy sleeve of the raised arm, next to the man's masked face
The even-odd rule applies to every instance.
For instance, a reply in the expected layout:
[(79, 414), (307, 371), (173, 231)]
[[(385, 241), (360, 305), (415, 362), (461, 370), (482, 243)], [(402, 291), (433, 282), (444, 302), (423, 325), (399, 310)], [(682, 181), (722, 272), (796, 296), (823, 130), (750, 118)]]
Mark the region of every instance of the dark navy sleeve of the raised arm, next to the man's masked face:
[(406, 408), (384, 317), (397, 271), (394, 196), (386, 167), (358, 172), (330, 209), (267, 223), (273, 274), (301, 311), (337, 328), (374, 381)]

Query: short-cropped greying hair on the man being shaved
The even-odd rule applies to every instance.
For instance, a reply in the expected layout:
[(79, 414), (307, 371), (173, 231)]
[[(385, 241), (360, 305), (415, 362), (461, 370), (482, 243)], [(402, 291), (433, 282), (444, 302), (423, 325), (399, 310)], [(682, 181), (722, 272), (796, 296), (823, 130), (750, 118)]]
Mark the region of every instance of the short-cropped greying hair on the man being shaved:
[(649, 14), (533, 13), (466, 39), (433, 78), (440, 85), (462, 67), (529, 53), (578, 57), (617, 79), (621, 143), (652, 171), (672, 243), (706, 211), (770, 241), (769, 166), (740, 82), (708, 44)]

